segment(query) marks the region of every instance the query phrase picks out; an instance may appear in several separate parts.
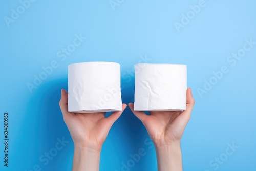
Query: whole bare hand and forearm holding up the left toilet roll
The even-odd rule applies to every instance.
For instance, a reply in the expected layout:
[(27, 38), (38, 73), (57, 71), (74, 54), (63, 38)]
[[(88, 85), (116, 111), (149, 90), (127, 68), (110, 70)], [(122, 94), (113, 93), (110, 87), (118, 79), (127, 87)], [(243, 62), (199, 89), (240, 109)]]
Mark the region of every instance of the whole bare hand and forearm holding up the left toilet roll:
[(100, 151), (113, 123), (123, 110), (113, 112), (108, 118), (105, 113), (68, 112), (68, 93), (62, 89), (59, 106), (74, 142), (73, 171), (99, 170)]

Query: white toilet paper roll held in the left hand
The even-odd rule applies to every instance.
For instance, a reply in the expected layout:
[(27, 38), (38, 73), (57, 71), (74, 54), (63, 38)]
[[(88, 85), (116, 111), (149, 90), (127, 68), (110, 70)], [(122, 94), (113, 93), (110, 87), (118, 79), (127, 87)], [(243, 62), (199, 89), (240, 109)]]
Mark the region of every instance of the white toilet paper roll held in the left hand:
[(120, 65), (82, 62), (68, 66), (69, 112), (122, 111)]

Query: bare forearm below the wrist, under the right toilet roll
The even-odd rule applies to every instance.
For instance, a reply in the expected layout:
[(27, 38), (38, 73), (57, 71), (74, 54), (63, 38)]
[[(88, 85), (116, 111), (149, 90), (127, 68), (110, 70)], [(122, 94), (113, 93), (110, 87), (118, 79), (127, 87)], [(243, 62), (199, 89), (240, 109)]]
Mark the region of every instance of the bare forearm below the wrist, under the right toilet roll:
[(180, 143), (156, 147), (158, 171), (182, 171)]

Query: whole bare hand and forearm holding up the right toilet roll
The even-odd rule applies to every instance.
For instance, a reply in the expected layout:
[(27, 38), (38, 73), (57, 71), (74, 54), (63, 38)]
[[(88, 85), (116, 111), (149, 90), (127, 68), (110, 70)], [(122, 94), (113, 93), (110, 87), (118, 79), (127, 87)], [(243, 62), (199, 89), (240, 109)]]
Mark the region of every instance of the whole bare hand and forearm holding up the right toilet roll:
[(186, 96), (184, 111), (150, 112), (150, 115), (146, 115), (144, 112), (134, 111), (134, 104), (129, 103), (130, 109), (144, 124), (154, 142), (158, 171), (182, 170), (180, 141), (195, 104), (191, 88), (187, 89)]

